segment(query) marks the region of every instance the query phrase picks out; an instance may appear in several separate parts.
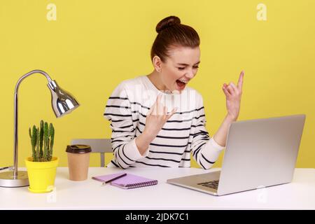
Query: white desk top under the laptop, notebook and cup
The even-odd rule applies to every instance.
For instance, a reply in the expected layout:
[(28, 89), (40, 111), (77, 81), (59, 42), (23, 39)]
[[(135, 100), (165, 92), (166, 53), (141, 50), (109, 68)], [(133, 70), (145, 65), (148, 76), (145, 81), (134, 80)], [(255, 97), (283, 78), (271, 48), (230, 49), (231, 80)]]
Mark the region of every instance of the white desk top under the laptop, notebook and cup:
[(295, 169), (292, 183), (220, 197), (166, 183), (170, 178), (209, 172), (197, 168), (130, 168), (126, 172), (159, 181), (131, 190), (91, 179), (115, 172), (122, 170), (91, 167), (88, 179), (76, 182), (68, 180), (67, 167), (58, 167), (52, 193), (0, 188), (0, 209), (315, 209), (315, 169)]

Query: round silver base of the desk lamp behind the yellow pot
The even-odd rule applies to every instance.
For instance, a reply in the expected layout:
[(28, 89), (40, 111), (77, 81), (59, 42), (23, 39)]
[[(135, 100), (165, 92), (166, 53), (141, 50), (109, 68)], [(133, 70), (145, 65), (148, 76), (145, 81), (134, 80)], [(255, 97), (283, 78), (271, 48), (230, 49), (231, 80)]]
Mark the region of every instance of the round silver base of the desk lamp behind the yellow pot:
[(0, 173), (0, 187), (18, 188), (29, 186), (29, 177), (26, 171), (18, 171), (18, 177), (14, 179), (13, 171)]

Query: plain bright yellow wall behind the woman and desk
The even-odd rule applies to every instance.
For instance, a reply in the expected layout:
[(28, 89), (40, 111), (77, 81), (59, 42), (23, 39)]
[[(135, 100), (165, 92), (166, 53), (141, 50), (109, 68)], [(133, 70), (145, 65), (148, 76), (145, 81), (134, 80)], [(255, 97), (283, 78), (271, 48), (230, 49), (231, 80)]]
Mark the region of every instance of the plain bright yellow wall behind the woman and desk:
[[(46, 19), (48, 3), (57, 6), (56, 21)], [(257, 20), (258, 3), (267, 6), (267, 21)], [(226, 114), (223, 83), (237, 83), (244, 69), (239, 120), (305, 113), (296, 167), (315, 167), (314, 10), (312, 0), (1, 1), (0, 167), (13, 165), (13, 92), (20, 76), (42, 69), (80, 102), (56, 119), (44, 76), (20, 85), (19, 165), (31, 155), (28, 128), (43, 119), (55, 125), (54, 155), (66, 166), (71, 139), (111, 137), (106, 100), (121, 81), (153, 71), (155, 26), (169, 15), (200, 34), (200, 70), (190, 86), (204, 97), (210, 135)], [(223, 153), (214, 167), (222, 159)], [(99, 165), (98, 155), (90, 165)]]

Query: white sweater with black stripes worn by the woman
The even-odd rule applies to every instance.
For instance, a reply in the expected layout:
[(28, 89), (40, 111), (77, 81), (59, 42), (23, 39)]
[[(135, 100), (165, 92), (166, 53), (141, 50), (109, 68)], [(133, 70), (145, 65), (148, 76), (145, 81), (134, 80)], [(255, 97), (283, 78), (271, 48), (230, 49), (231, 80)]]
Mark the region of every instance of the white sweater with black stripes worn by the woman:
[[(135, 138), (144, 131), (159, 93), (168, 112), (178, 109), (141, 155)], [(111, 123), (114, 155), (107, 167), (190, 167), (191, 153), (202, 168), (210, 169), (224, 148), (209, 137), (202, 96), (191, 87), (176, 94), (158, 90), (147, 76), (124, 80), (109, 97), (104, 117)]]

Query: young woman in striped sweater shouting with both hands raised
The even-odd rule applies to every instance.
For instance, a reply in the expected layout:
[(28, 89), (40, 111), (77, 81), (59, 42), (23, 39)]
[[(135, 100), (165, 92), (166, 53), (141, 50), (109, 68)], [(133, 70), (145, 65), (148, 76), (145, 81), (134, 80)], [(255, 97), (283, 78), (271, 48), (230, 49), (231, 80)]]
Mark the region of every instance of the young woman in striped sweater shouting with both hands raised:
[(156, 31), (153, 72), (124, 80), (106, 104), (114, 155), (107, 167), (190, 167), (192, 153), (202, 168), (210, 169), (239, 116), (244, 72), (237, 85), (223, 84), (228, 113), (209, 137), (202, 96), (186, 86), (200, 64), (197, 31), (175, 16), (161, 20)]

